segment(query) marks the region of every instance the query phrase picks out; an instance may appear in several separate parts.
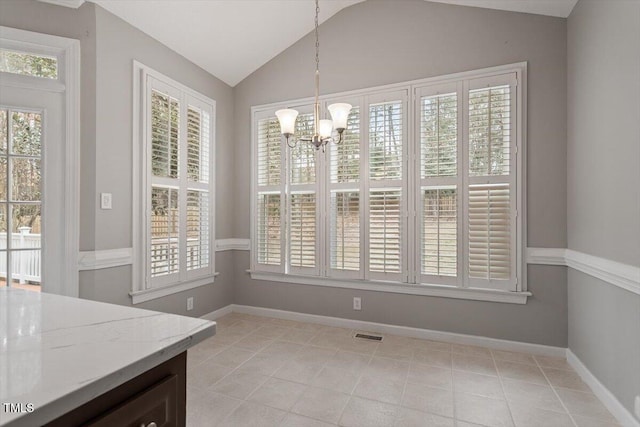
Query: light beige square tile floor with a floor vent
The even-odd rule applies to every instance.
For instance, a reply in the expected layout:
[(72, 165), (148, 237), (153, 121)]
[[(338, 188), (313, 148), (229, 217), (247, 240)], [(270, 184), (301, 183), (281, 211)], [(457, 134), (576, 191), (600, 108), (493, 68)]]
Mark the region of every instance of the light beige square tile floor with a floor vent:
[(595, 427), (564, 359), (232, 313), (188, 352), (187, 425)]

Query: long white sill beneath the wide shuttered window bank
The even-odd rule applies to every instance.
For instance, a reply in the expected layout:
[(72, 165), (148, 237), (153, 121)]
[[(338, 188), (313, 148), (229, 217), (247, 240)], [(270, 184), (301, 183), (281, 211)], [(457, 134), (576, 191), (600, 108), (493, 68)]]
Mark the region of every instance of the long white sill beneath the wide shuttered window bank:
[(456, 298), (475, 301), (491, 301), (508, 304), (526, 304), (531, 292), (509, 292), (491, 289), (453, 288), (427, 284), (391, 283), (365, 280), (344, 280), (281, 273), (249, 271), (251, 278), (271, 282), (297, 283), (332, 288), (362, 289), (365, 291), (390, 292), (396, 294), (424, 295), (442, 298)]

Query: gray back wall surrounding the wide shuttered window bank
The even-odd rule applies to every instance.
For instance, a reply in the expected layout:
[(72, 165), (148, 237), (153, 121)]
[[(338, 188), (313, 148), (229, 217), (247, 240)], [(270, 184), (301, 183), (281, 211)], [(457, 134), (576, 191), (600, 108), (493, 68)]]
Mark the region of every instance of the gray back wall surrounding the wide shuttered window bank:
[[(312, 96), (309, 34), (234, 88), (234, 230), (249, 237), (250, 108)], [(320, 27), (321, 92), (401, 82), (528, 61), (529, 246), (566, 247), (566, 20), (422, 0), (370, 0)], [(235, 302), (452, 332), (567, 344), (566, 271), (529, 268), (527, 305), (354, 291), (249, 278), (247, 253), (235, 258)]]

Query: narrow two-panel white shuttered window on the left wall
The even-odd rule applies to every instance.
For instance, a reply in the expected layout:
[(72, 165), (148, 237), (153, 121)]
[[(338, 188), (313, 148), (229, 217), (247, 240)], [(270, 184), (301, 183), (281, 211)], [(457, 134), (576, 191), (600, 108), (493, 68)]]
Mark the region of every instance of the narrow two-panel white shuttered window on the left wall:
[[(152, 70), (142, 69), (140, 75), (146, 177), (140, 224), (146, 243), (139, 272), (145, 285), (138, 293), (211, 283), (215, 103)], [(140, 299), (136, 290), (133, 295)]]

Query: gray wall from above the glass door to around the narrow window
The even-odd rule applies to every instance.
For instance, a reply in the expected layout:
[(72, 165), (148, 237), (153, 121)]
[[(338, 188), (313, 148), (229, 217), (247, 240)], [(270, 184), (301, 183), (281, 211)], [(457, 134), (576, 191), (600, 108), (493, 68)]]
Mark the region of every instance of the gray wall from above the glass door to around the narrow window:
[[(233, 188), (224, 185), (233, 163), (233, 90), (182, 56), (93, 3), (79, 9), (34, 0), (0, 0), (0, 25), (80, 39), (81, 206), (80, 250), (132, 245), (133, 60), (142, 62), (216, 100), (216, 233), (232, 237)], [(101, 210), (99, 193), (113, 194)], [(220, 276), (202, 286), (140, 307), (200, 316), (233, 302), (233, 254), (216, 254)], [(82, 298), (130, 305), (131, 268), (80, 273)], [(186, 311), (186, 297), (194, 310)]]

